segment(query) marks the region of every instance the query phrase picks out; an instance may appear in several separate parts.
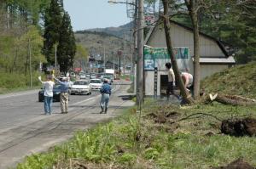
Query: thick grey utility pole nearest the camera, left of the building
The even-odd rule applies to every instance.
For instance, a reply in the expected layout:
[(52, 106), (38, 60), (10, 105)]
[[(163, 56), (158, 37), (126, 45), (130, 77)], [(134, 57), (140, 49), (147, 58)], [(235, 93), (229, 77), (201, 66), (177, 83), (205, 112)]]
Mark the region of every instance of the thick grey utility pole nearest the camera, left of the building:
[(143, 22), (144, 22), (144, 7), (143, 0), (138, 0), (138, 20), (137, 20), (137, 106), (142, 104), (144, 100), (144, 79), (143, 79)]

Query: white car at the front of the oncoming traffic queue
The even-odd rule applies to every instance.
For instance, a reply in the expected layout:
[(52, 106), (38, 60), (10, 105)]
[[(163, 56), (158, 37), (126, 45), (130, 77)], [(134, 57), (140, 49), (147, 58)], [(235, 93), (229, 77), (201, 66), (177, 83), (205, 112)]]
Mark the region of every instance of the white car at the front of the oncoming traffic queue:
[(91, 94), (90, 82), (84, 80), (73, 82), (70, 94)]

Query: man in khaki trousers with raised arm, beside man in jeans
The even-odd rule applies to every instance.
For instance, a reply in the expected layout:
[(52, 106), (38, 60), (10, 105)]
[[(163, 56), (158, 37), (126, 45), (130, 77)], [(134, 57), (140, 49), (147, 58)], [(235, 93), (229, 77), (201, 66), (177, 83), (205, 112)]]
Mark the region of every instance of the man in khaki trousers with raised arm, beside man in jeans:
[(61, 114), (68, 113), (68, 87), (69, 83), (67, 82), (67, 78), (62, 77), (61, 81), (55, 78), (55, 81), (61, 84), (61, 94), (60, 94), (60, 102), (61, 102)]

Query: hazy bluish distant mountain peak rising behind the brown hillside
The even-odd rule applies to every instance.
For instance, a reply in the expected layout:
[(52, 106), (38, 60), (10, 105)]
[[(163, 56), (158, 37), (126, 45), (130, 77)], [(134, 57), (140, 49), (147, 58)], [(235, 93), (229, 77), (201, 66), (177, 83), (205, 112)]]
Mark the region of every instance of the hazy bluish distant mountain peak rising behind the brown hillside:
[(88, 29), (85, 31), (92, 31), (92, 32), (105, 32), (115, 37), (124, 38), (127, 41), (131, 40), (131, 29), (133, 27), (133, 23), (130, 22), (125, 25), (120, 25), (119, 27), (107, 27), (107, 28), (95, 28), (95, 29)]

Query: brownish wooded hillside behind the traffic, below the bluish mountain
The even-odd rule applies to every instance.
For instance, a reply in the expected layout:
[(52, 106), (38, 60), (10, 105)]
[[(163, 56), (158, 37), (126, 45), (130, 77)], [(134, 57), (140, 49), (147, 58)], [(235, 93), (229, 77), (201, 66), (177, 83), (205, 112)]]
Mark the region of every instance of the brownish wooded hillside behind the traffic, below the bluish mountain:
[[(77, 31), (75, 37), (78, 44), (89, 50), (90, 56), (103, 55), (105, 48), (107, 60), (113, 60), (113, 57), (117, 57), (118, 50), (122, 50), (125, 53), (131, 50), (130, 42), (105, 32)], [(131, 54), (127, 54), (126, 58), (129, 61)]]

